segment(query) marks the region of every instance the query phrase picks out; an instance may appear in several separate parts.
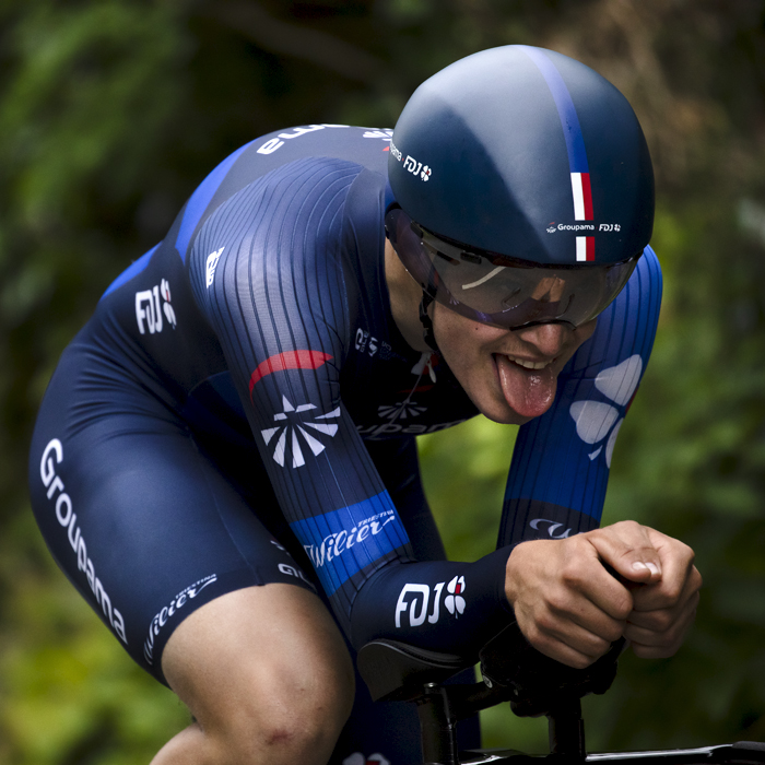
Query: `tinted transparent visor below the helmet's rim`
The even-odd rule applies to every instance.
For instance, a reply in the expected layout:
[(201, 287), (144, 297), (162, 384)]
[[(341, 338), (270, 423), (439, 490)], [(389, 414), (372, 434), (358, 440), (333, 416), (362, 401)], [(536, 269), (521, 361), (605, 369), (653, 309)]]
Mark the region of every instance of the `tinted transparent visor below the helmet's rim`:
[(401, 209), (386, 232), (409, 273), (433, 299), (502, 329), (596, 318), (627, 283), (642, 254), (608, 266), (539, 264), (497, 252), (468, 250), (414, 223)]

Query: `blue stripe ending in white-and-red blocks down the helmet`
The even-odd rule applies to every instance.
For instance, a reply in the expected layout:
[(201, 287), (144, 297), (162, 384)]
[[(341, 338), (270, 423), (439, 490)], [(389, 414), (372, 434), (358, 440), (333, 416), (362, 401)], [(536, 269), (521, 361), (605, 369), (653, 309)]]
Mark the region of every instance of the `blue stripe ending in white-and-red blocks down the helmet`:
[[(574, 107), (572, 94), (552, 60), (539, 48), (523, 46), (526, 54), (537, 64), (550, 93), (555, 102), (561, 127), (566, 141), (568, 153), (568, 169), (572, 178), (572, 196), (574, 198), (574, 220), (591, 221), (592, 189), (590, 187), (590, 168), (587, 164), (585, 139), (581, 136), (579, 117)], [(576, 237), (577, 262), (595, 260), (595, 236)]]

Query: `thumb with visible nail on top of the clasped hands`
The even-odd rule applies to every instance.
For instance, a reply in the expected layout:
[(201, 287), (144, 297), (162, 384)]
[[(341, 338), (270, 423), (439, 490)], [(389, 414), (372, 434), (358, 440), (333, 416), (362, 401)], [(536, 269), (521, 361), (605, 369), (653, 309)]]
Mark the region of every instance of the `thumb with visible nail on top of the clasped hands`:
[(661, 556), (645, 526), (621, 521), (591, 534), (590, 541), (600, 557), (624, 578), (638, 582), (661, 579)]

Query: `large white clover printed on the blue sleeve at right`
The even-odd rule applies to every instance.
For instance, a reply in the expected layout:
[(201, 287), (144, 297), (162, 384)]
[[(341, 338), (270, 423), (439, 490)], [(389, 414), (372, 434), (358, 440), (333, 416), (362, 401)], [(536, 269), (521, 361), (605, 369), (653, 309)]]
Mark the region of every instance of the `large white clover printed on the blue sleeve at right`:
[[(616, 366), (603, 369), (595, 378), (595, 387), (605, 398), (624, 407), (635, 395), (642, 372), (643, 360), (638, 354), (635, 354)], [(608, 437), (605, 464), (610, 468), (616, 436), (624, 422), (624, 417), (620, 419), (619, 416), (619, 410), (602, 401), (575, 401), (568, 411), (576, 423), (577, 435), (585, 444), (595, 445)], [(593, 460), (602, 449), (603, 445), (601, 444), (588, 457)]]

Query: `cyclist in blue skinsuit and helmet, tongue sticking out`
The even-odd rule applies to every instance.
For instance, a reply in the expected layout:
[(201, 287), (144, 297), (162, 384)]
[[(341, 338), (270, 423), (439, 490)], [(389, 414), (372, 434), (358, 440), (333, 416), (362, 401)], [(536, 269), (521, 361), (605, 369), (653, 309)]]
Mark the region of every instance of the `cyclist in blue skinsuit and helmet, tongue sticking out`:
[[(652, 208), (624, 97), (526, 46), (429, 79), (392, 140), (293, 128), (201, 184), (63, 353), (31, 457), (57, 562), (195, 717), (155, 763), (416, 756), (409, 710), (354, 695), (373, 637), (470, 654), (515, 612), (576, 667), (676, 650), (692, 551), (598, 529)], [(414, 436), (479, 412), (522, 426), (498, 546), (447, 562)]]

